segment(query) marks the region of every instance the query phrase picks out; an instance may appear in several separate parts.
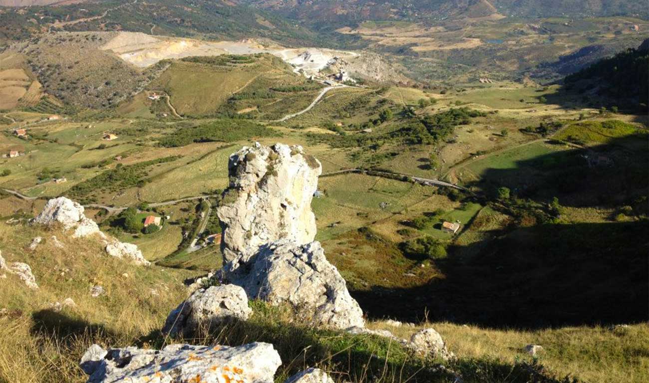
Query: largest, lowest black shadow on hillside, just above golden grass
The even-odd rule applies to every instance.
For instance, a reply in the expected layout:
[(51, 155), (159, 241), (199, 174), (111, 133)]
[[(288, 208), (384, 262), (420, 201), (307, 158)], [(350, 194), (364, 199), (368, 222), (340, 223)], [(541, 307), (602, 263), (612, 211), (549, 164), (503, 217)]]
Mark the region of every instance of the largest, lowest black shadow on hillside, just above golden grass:
[[(352, 291), (370, 318), (545, 328), (646, 321), (647, 222), (541, 225), (449, 249), (444, 277)], [(461, 256), (462, 254), (474, 254)]]

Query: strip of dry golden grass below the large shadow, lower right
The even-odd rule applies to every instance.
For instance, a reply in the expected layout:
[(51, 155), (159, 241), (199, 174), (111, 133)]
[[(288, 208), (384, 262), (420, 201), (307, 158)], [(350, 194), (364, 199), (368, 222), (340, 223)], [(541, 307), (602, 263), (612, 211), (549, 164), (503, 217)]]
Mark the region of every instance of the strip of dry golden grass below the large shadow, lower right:
[(415, 327), (391, 327), (371, 323), (373, 329), (387, 329), (403, 338), (420, 329), (433, 327), (450, 351), (458, 356), (497, 358), (504, 362), (532, 360), (525, 345), (543, 346), (538, 360), (558, 375), (570, 375), (590, 383), (649, 381), (649, 325), (564, 327), (561, 329), (487, 329), (455, 323), (423, 323)]

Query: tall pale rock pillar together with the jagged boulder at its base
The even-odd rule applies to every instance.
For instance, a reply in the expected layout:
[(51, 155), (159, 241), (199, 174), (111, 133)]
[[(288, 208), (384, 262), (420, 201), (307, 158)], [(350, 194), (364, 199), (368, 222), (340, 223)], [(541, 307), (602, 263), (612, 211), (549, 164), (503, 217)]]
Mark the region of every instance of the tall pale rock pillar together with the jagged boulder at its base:
[(225, 228), (223, 279), (251, 299), (290, 303), (324, 327), (364, 327), (345, 279), (315, 238), (313, 193), (322, 167), (301, 146), (256, 144), (230, 156), (230, 187), (218, 215)]

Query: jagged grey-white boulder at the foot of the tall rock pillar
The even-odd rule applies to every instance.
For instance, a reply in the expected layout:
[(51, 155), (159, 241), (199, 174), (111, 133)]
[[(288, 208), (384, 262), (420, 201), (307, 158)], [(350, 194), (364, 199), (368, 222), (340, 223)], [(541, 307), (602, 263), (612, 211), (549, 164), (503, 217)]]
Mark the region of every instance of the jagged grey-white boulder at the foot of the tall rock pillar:
[(319, 242), (299, 246), (280, 240), (260, 248), (250, 261), (248, 273), (235, 270), (226, 275), (249, 297), (273, 305), (290, 303), (317, 325), (365, 326), (360, 306), (349, 295), (345, 279), (324, 257)]

